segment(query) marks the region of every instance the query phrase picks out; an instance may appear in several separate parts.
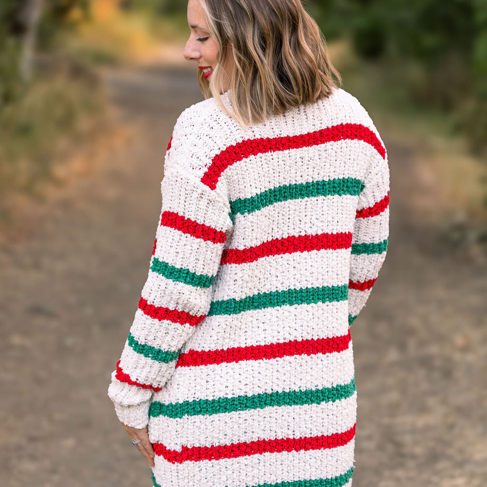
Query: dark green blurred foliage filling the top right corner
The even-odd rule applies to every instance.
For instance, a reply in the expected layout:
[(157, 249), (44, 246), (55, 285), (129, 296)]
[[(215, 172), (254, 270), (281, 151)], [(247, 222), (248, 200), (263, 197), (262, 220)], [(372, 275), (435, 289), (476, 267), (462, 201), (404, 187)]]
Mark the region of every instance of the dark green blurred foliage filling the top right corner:
[(487, 0), (309, 0), (325, 37), (349, 37), (418, 106), (455, 113), (472, 148), (487, 139)]

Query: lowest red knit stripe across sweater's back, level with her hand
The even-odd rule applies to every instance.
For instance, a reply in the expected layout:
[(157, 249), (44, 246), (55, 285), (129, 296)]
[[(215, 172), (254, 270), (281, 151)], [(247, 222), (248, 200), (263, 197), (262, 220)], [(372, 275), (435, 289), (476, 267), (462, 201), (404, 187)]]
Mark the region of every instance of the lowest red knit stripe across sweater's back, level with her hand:
[(169, 450), (162, 443), (153, 443), (154, 453), (163, 456), (171, 463), (199, 460), (220, 460), (222, 458), (238, 458), (246, 455), (262, 453), (279, 453), (281, 451), (324, 450), (342, 447), (355, 436), (354, 425), (343, 433), (330, 435), (304, 436), (300, 438), (273, 438), (270, 440), (245, 441), (230, 445), (214, 445), (211, 447), (187, 447), (181, 450)]

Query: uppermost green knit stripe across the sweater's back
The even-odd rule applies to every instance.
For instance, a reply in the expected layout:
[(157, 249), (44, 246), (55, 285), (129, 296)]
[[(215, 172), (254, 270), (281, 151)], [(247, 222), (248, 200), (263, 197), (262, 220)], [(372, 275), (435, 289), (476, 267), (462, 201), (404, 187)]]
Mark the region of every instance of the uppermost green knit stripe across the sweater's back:
[(279, 201), (310, 198), (313, 196), (357, 196), (363, 187), (362, 181), (356, 178), (337, 178), (326, 181), (289, 184), (267, 189), (249, 198), (239, 198), (230, 201), (230, 207), (233, 213), (252, 213), (253, 211), (260, 210), (264, 206), (273, 205)]

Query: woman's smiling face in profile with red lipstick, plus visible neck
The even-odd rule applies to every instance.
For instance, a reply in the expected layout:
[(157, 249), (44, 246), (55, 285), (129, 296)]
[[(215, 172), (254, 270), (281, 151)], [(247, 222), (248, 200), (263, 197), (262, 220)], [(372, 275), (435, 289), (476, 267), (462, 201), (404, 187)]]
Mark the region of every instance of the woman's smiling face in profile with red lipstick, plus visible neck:
[[(218, 46), (208, 31), (205, 10), (201, 6), (200, 0), (188, 1), (187, 23), (191, 33), (187, 39), (183, 55), (188, 61), (196, 61), (198, 67), (203, 70), (204, 76), (208, 79), (218, 63)], [(224, 64), (225, 73), (229, 75), (232, 72), (233, 66), (234, 60), (231, 48), (229, 48)], [(229, 81), (228, 75), (224, 75), (225, 91)]]

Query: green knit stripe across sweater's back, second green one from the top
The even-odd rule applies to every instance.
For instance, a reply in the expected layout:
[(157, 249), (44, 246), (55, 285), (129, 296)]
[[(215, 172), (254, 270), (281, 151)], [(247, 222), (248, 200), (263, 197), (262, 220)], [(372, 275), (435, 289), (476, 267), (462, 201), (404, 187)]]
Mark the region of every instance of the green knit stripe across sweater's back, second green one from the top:
[(302, 289), (285, 289), (268, 293), (246, 296), (240, 300), (213, 301), (207, 316), (236, 315), (244, 311), (275, 308), (286, 304), (311, 304), (326, 301), (344, 301), (348, 299), (348, 285), (305, 287)]

